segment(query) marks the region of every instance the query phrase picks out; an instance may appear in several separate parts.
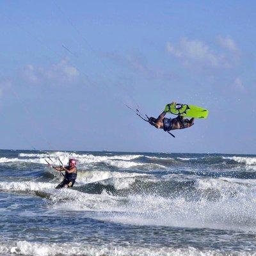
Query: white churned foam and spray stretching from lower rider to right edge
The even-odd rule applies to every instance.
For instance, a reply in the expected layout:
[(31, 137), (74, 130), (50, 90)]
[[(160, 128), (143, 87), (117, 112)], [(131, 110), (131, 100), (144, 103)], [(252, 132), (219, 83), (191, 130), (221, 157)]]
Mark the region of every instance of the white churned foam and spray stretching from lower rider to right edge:
[[(212, 181), (210, 183), (214, 184)], [(225, 181), (223, 183), (225, 184)], [(198, 185), (200, 187), (198, 189), (205, 189), (202, 184), (200, 186)], [(246, 185), (242, 184), (238, 186), (237, 192), (234, 189), (237, 188), (237, 184), (234, 182), (228, 185), (231, 188), (233, 186), (234, 193), (228, 192), (226, 185), (214, 184), (213, 186), (219, 188), (221, 196), (218, 198), (211, 199), (203, 196), (189, 200), (183, 196), (164, 198), (155, 195), (122, 197), (111, 196), (107, 193), (90, 195), (67, 189), (58, 195), (58, 200), (54, 201), (56, 202), (54, 207), (60, 207), (66, 211), (98, 212), (90, 218), (131, 225), (217, 228), (256, 232), (256, 186), (250, 184), (252, 188), (246, 190)], [(209, 187), (212, 188), (212, 186)], [(68, 198), (68, 201), (62, 202), (61, 198)], [(70, 200), (72, 200), (72, 207)]]

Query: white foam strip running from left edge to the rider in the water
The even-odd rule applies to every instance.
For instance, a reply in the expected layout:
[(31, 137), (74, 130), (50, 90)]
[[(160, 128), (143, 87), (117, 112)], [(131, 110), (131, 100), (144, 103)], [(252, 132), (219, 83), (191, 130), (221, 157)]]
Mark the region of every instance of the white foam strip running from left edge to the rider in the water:
[(36, 191), (52, 188), (54, 188), (54, 184), (50, 182), (0, 182), (0, 189), (4, 191)]

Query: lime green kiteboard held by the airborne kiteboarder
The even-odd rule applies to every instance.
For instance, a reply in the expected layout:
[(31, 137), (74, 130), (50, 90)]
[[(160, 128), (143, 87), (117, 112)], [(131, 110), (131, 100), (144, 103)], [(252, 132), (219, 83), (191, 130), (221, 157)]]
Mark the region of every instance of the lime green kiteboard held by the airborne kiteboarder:
[(184, 117), (207, 118), (209, 111), (207, 109), (188, 104), (167, 104), (164, 112), (180, 115)]

